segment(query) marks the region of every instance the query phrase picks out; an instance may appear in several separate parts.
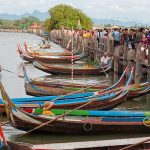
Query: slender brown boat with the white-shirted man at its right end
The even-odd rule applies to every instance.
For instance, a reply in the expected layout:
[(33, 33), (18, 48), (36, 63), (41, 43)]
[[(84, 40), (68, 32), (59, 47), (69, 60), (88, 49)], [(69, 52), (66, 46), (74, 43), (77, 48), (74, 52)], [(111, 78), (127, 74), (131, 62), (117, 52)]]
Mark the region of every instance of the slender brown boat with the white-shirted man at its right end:
[(105, 67), (100, 66), (84, 66), (82, 64), (46, 64), (39, 61), (34, 61), (33, 65), (47, 73), (52, 74), (71, 74), (73, 72), (74, 75), (96, 75), (96, 74), (105, 74), (110, 71), (112, 62)]

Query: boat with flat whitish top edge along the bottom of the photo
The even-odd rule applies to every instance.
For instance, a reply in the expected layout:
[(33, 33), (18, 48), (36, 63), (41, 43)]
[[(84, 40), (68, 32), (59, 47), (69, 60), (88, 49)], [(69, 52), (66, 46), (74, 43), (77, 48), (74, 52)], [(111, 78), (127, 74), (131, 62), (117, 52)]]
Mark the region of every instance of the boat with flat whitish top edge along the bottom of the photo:
[[(55, 144), (41, 144), (31, 145), (25, 143), (17, 143), (19, 148), (24, 150), (121, 150), (122, 148), (139, 143), (149, 139), (148, 137), (142, 138), (128, 138), (128, 139), (115, 139), (115, 140), (101, 140), (101, 141), (85, 141), (85, 142), (70, 142), (70, 143), (55, 143)], [(11, 144), (13, 145), (13, 144)], [(15, 143), (14, 143), (15, 147)], [(144, 150), (150, 149), (150, 142), (142, 143), (128, 150)], [(19, 150), (19, 149), (15, 149)]]

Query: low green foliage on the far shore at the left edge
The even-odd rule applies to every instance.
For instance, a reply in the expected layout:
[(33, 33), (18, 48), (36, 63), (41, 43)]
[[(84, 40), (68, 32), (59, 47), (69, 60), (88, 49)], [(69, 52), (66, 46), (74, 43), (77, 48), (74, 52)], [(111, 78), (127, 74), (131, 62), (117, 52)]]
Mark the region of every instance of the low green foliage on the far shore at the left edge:
[(0, 19), (0, 28), (2, 29), (27, 29), (34, 22), (40, 23), (36, 17), (29, 16), (20, 20), (4, 20)]

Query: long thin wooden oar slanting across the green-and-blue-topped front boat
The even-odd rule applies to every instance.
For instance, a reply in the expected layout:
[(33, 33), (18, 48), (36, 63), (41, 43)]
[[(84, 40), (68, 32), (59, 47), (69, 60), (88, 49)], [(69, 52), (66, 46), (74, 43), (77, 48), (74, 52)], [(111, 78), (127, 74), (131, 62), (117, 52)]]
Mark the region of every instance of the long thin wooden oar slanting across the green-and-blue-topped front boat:
[(64, 114), (62, 114), (62, 115), (59, 115), (58, 117), (56, 117), (56, 118), (54, 118), (54, 119), (52, 119), (52, 120), (49, 120), (49, 121), (47, 121), (47, 122), (45, 122), (45, 123), (40, 124), (39, 126), (35, 127), (34, 129), (29, 130), (29, 131), (26, 132), (26, 133), (21, 134), (20, 136), (29, 134), (29, 133), (31, 133), (31, 132), (37, 130), (37, 129), (40, 129), (40, 128), (42, 128), (43, 126), (45, 126), (45, 125), (47, 125), (47, 124), (50, 124), (50, 123), (52, 123), (52, 122), (58, 120), (59, 118), (63, 118), (64, 116), (68, 115), (69, 113), (71, 113), (71, 112), (73, 112), (73, 111), (75, 111), (75, 110), (78, 110), (78, 109), (80, 109), (80, 108), (82, 108), (82, 107), (84, 107), (84, 106), (86, 106), (86, 105), (89, 105), (89, 104), (92, 103), (92, 102), (93, 102), (93, 100), (90, 100), (90, 101), (88, 101), (87, 103), (85, 103), (85, 104), (83, 104), (83, 105), (81, 105), (81, 106), (79, 106), (79, 107), (76, 107), (76, 108), (73, 109), (73, 110), (70, 110), (70, 111), (68, 111), (68, 112), (66, 112), (66, 113), (64, 113)]

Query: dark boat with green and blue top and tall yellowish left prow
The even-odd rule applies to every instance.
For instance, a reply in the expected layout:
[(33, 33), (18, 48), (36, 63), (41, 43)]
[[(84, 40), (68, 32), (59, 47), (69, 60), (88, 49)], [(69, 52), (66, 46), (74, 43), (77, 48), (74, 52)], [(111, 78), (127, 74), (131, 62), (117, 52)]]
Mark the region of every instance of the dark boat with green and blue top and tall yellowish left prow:
[[(1, 84), (7, 118), (20, 130), (59, 134), (148, 133), (150, 112), (52, 109), (55, 115), (35, 115), (16, 107)], [(64, 115), (65, 114), (65, 115)], [(60, 116), (61, 115), (61, 116)]]

